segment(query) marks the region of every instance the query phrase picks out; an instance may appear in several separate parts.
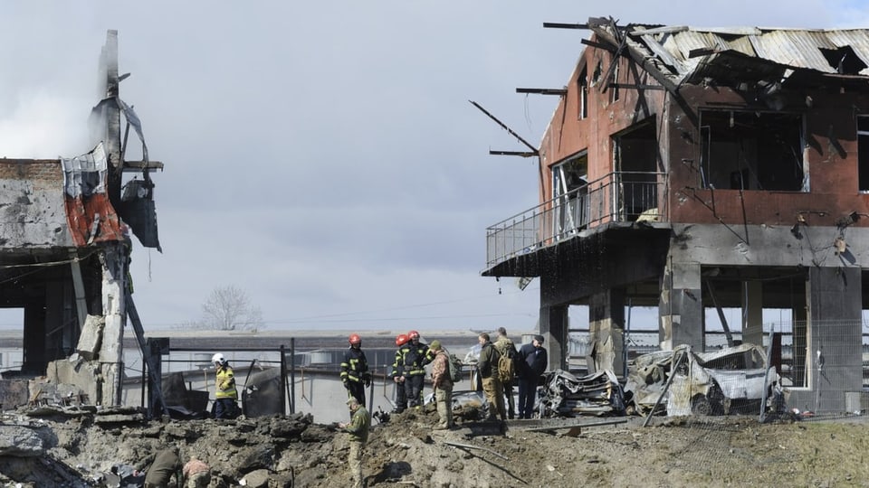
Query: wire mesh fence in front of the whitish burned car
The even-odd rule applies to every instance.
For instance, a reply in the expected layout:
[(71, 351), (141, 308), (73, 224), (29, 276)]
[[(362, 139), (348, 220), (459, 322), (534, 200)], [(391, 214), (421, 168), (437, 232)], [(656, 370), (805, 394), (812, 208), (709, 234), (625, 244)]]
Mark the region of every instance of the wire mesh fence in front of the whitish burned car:
[[(748, 334), (745, 334), (748, 337)], [(626, 403), (639, 413), (828, 418), (863, 415), (869, 403), (869, 325), (860, 321), (774, 323), (751, 333), (704, 334), (705, 346), (662, 352), (658, 332), (625, 333), (619, 366)], [(759, 342), (759, 343), (757, 343)], [(596, 345), (571, 331), (570, 369), (594, 368)], [(634, 390), (635, 389), (635, 390)], [(660, 401), (659, 401), (660, 399)], [(654, 403), (650, 403), (654, 400)]]

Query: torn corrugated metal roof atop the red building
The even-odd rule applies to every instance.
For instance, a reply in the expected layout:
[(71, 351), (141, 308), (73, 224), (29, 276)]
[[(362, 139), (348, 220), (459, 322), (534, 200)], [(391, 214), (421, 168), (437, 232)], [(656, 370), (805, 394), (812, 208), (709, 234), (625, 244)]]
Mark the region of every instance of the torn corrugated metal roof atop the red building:
[[(701, 28), (589, 19), (598, 41), (656, 70), (672, 87), (704, 80), (787, 81), (794, 73), (838, 80), (869, 76), (869, 29)], [(626, 52), (625, 52), (626, 51)], [(734, 72), (738, 71), (738, 72)], [(806, 80), (805, 76), (795, 79)]]

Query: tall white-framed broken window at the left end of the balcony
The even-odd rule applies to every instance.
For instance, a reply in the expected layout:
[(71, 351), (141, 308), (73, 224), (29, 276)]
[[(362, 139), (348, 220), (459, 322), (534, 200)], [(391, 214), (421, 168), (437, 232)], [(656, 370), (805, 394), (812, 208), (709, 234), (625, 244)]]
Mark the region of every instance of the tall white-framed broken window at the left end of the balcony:
[(587, 171), (586, 151), (552, 166), (552, 199), (555, 203), (553, 224), (556, 238), (588, 226)]

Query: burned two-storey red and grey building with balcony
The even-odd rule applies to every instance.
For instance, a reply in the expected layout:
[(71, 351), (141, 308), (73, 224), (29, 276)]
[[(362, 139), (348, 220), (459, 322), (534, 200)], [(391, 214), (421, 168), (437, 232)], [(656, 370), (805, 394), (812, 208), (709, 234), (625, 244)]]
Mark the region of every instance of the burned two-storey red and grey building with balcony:
[(540, 204), (487, 230), (482, 275), (540, 278), (550, 370), (571, 305), (587, 305), (592, 367), (618, 372), (626, 305), (657, 310), (661, 349), (701, 352), (724, 308), (742, 341), (778, 346), (762, 323), (778, 309), (790, 399), (860, 409), (869, 29), (544, 27), (591, 35), (563, 89), (517, 89), (559, 97), (523, 154)]

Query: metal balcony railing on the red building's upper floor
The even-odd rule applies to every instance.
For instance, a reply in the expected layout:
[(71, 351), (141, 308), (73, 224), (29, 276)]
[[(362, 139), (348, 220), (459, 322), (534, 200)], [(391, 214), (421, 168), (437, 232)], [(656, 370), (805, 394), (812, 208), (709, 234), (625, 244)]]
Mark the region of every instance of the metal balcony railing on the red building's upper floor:
[(486, 229), (486, 265), (534, 252), (607, 222), (659, 217), (663, 173), (620, 172), (587, 183)]

